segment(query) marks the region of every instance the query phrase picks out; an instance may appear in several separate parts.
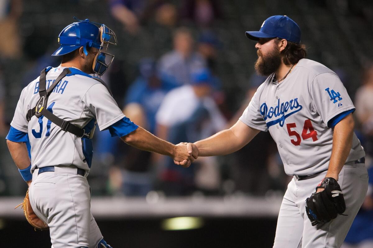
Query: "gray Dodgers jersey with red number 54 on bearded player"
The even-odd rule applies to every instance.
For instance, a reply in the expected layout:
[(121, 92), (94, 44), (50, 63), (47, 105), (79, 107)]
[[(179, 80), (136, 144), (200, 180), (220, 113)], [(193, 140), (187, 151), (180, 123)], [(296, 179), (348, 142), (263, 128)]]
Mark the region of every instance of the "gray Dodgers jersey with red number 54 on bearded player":
[[(316, 61), (301, 59), (280, 83), (272, 77), (259, 86), (240, 121), (261, 131), (269, 130), (288, 175), (311, 175), (327, 170), (333, 128), (353, 112), (339, 77)], [(353, 135), (346, 162), (365, 156)]]

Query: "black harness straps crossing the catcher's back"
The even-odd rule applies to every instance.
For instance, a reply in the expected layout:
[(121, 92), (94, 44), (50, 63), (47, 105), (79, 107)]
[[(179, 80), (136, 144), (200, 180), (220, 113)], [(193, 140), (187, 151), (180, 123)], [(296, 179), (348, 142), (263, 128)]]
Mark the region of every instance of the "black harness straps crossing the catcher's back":
[(52, 112), (47, 110), (48, 97), (49, 97), (50, 93), (53, 91), (53, 89), (56, 87), (56, 85), (67, 74), (70, 74), (70, 73), (71, 73), (71, 71), (70, 71), (69, 68), (63, 69), (62, 73), (57, 77), (57, 79), (54, 81), (54, 83), (48, 89), (46, 89), (47, 69), (44, 69), (44, 70), (41, 71), (40, 79), (39, 79), (40, 99), (37, 102), (35, 108), (29, 109), (27, 111), (26, 119), (27, 119), (27, 121), (30, 121), (31, 117), (33, 117), (34, 115), (38, 118), (40, 116), (44, 115), (48, 120), (50, 120), (51, 122), (53, 122), (54, 124), (59, 126), (63, 131), (68, 131), (69, 133), (72, 133), (72, 134), (74, 134), (78, 137), (81, 137), (81, 138), (85, 137), (85, 138), (88, 138), (88, 139), (92, 139), (90, 133), (85, 133), (84, 129), (77, 127), (76, 125), (70, 123), (69, 121), (62, 120), (61, 118), (57, 117), (56, 115), (52, 114)]

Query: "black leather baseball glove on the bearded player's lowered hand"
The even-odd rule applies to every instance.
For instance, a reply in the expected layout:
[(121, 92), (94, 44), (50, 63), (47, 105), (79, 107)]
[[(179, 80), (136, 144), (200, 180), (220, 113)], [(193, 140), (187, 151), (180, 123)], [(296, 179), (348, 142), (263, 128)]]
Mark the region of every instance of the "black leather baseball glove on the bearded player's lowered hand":
[[(323, 191), (316, 193), (319, 188)], [(341, 187), (332, 177), (326, 177), (316, 187), (316, 192), (305, 200), (305, 210), (312, 226), (327, 223), (346, 210)]]

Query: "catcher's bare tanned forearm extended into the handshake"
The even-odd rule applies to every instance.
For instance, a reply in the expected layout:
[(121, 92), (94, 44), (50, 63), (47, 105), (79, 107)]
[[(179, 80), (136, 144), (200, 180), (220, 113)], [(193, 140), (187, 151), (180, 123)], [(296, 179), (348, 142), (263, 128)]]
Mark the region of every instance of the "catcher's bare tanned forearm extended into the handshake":
[(135, 131), (129, 133), (121, 139), (130, 146), (148, 152), (156, 152), (162, 155), (175, 155), (175, 145), (165, 140), (159, 139), (149, 133), (142, 127), (138, 127)]

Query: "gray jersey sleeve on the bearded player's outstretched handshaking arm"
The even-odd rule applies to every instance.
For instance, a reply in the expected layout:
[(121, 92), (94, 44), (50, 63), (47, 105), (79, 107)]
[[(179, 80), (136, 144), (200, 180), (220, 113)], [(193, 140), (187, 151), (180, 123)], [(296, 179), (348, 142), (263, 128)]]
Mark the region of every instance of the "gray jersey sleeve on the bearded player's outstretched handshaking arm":
[(268, 130), (267, 124), (266, 121), (264, 121), (263, 116), (260, 114), (260, 106), (258, 104), (259, 94), (260, 93), (257, 90), (239, 120), (249, 127), (266, 132)]

